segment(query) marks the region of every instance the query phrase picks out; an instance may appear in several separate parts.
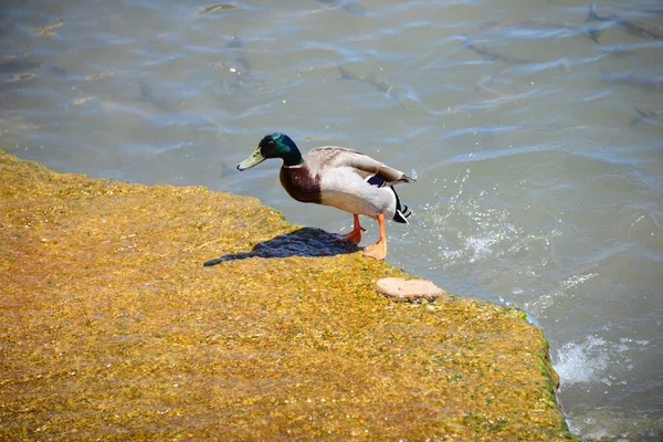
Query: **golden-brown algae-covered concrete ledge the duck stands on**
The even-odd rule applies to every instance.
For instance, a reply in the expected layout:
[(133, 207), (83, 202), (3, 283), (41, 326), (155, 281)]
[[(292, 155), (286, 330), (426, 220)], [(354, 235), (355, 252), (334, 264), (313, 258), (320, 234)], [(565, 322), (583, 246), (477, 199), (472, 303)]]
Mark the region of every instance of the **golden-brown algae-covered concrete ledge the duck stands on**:
[(0, 243), (1, 440), (572, 439), (523, 314), (255, 199), (0, 152)]

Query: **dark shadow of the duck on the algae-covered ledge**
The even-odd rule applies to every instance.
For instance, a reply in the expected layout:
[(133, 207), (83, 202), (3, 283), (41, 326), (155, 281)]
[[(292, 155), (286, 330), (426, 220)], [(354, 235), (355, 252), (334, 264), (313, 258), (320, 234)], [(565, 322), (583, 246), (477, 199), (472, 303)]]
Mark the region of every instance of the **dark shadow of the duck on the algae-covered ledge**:
[(287, 256), (334, 256), (354, 253), (359, 249), (350, 241), (338, 241), (333, 234), (322, 229), (302, 228), (294, 232), (274, 236), (260, 242), (251, 252), (231, 253), (207, 261), (206, 267), (227, 261), (246, 260), (249, 257), (287, 257)]

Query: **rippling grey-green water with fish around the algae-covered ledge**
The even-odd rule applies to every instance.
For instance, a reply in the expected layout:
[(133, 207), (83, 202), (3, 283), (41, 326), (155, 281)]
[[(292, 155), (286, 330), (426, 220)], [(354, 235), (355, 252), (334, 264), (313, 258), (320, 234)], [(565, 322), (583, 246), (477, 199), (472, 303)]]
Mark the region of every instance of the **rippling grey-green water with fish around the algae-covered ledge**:
[(663, 42), (625, 24), (661, 29), (659, 1), (590, 23), (580, 1), (1, 8), (3, 149), (259, 197), (332, 232), (351, 217), (292, 201), (276, 161), (234, 169), (264, 134), (413, 171), (388, 260), (528, 312), (578, 435), (663, 439)]

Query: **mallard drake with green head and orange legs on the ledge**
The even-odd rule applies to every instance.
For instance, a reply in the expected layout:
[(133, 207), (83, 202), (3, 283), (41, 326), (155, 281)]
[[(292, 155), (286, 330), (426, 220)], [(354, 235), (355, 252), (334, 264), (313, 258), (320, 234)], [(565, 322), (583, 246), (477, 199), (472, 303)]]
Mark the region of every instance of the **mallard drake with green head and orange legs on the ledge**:
[(385, 220), (408, 223), (411, 214), (410, 209), (401, 204), (393, 186), (415, 179), (345, 147), (317, 147), (303, 156), (295, 143), (280, 133), (265, 135), (253, 154), (240, 162), (238, 170), (246, 170), (269, 158), (283, 159), (281, 185), (295, 200), (352, 213), (352, 231), (337, 234), (338, 240), (359, 245), (361, 232), (366, 231), (359, 223), (359, 215), (377, 219), (380, 239), (367, 246), (364, 254), (378, 260), (387, 256)]

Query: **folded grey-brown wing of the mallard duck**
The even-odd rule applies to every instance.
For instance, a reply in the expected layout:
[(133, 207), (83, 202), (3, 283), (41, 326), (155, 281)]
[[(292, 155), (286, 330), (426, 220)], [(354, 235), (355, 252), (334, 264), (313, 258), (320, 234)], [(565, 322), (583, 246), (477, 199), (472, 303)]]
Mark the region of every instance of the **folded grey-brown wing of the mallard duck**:
[(375, 186), (394, 186), (401, 182), (417, 181), (412, 177), (358, 152), (357, 150), (345, 147), (326, 146), (312, 149), (306, 154), (306, 162), (309, 167), (315, 167), (320, 172), (327, 168), (352, 168), (361, 178)]

